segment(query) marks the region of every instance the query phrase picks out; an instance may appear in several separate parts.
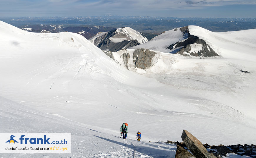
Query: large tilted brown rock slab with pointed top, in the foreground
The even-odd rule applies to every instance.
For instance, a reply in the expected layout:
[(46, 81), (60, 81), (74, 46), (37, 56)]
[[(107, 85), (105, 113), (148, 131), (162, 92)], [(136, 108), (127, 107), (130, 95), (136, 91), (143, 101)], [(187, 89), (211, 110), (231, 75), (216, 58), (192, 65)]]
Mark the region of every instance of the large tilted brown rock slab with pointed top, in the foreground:
[(216, 158), (213, 154), (210, 154), (202, 143), (195, 138), (194, 135), (189, 133), (187, 130), (183, 130), (181, 138), (187, 148), (197, 158)]

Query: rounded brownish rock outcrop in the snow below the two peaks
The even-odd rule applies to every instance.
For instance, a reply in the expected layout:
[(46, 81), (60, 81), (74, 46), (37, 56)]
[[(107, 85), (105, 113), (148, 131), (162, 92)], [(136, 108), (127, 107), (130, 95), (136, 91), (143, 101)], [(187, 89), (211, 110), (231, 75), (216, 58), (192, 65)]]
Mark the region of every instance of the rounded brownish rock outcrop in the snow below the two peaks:
[(156, 55), (154, 51), (148, 49), (136, 49), (133, 52), (133, 61), (137, 68), (150, 68), (152, 66), (152, 58)]

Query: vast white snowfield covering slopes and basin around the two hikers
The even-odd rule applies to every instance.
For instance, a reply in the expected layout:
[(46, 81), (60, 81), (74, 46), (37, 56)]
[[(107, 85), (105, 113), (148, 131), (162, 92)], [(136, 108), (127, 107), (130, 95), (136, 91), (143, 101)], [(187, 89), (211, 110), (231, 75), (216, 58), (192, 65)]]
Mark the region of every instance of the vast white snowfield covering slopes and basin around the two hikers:
[[(210, 145), (255, 144), (256, 29), (189, 30), (221, 56), (163, 53), (151, 40), (161, 48), (158, 60), (129, 71), (82, 35), (26, 32), (0, 21), (0, 132), (71, 133), (71, 154), (54, 157), (175, 157), (176, 145), (148, 141), (182, 141), (183, 129)], [(119, 139), (124, 122), (127, 140)]]

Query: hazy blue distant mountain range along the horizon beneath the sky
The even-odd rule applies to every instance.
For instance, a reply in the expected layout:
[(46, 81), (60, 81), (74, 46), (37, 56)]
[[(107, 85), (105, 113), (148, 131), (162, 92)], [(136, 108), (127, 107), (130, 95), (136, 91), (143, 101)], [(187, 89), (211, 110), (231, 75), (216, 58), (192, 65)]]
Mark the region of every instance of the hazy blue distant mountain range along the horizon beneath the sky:
[[(88, 16), (88, 17), (21, 17), (0, 18), (14, 26), (21, 25), (99, 25), (110, 28), (130, 27), (139, 32), (159, 35), (159, 33), (187, 25), (197, 25), (213, 32), (238, 31), (256, 28), (256, 18), (174, 18), (174, 17), (134, 17), (134, 16)], [(20, 27), (19, 27), (20, 28)]]

